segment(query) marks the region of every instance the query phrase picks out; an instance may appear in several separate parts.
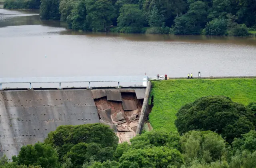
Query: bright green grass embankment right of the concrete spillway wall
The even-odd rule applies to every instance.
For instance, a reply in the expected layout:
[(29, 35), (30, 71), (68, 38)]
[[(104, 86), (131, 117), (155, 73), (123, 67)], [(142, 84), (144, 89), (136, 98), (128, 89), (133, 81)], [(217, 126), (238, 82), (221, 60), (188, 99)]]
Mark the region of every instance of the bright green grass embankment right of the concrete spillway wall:
[(152, 84), (154, 107), (149, 121), (155, 130), (176, 131), (176, 112), (203, 96), (228, 96), (244, 105), (256, 101), (256, 79), (181, 79), (153, 81)]

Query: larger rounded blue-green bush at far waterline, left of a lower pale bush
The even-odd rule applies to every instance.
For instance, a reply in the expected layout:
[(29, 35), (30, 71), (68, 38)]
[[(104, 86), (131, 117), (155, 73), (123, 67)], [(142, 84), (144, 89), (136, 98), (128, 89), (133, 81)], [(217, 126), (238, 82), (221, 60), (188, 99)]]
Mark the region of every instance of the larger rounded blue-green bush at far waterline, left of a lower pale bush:
[(224, 20), (223, 18), (215, 18), (206, 24), (205, 34), (221, 36), (226, 34), (226, 30), (226, 20)]

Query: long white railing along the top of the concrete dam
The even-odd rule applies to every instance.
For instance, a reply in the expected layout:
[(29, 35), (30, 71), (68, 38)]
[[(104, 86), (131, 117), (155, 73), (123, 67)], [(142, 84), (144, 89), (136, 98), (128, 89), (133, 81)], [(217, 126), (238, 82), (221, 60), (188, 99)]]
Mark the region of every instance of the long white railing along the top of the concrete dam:
[[(120, 82), (147, 82), (148, 76), (85, 76), (85, 77), (42, 77), (42, 78), (0, 78), (0, 90), (2, 90), (2, 84), (21, 84), (29, 83), (30, 89), (32, 89), (33, 83), (59, 83), (61, 89), (61, 83), (88, 83), (90, 88), (91, 82), (118, 82), (118, 88), (120, 88)], [(144, 85), (144, 84), (143, 84)]]

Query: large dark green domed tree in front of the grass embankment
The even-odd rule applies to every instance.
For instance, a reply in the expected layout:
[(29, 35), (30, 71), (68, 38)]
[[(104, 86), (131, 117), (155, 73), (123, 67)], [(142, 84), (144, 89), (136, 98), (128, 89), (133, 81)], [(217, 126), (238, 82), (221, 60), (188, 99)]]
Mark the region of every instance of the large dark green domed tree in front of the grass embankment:
[(256, 116), (244, 105), (225, 96), (207, 96), (182, 106), (176, 114), (180, 134), (190, 130), (216, 131), (231, 143), (255, 129)]

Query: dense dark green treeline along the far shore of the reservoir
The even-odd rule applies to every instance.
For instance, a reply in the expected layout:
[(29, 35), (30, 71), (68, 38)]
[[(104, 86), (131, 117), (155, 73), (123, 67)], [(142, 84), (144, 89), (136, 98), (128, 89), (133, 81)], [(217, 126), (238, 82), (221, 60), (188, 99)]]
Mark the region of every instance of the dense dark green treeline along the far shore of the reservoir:
[(80, 31), (255, 36), (255, 0), (5, 0)]

